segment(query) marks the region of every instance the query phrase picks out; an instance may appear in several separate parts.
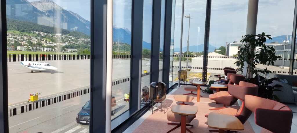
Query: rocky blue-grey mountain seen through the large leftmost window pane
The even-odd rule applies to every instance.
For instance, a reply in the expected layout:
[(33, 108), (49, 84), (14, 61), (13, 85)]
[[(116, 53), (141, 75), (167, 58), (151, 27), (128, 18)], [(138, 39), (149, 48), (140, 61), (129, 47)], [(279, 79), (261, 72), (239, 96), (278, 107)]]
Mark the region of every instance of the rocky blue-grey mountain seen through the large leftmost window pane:
[(90, 21), (72, 11), (65, 10), (54, 1), (8, 0), (6, 4), (9, 19), (91, 34)]

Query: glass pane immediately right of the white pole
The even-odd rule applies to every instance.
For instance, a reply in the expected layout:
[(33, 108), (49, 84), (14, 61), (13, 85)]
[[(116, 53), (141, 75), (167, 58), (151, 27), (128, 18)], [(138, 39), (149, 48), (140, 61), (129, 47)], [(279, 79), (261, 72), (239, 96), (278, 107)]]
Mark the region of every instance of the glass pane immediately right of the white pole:
[(129, 109), (132, 0), (113, 1), (113, 68), (111, 119)]

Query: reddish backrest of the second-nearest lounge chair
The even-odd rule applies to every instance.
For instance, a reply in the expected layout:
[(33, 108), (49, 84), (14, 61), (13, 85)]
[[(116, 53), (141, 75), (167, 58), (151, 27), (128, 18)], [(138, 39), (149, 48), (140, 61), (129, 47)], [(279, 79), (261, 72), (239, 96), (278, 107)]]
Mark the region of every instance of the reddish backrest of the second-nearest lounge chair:
[(235, 116), (241, 121), (242, 124), (244, 124), (252, 114), (252, 111), (245, 107), (244, 96), (257, 95), (258, 86), (249, 82), (240, 81), (239, 85), (228, 85), (228, 93), (242, 101), (242, 105)]

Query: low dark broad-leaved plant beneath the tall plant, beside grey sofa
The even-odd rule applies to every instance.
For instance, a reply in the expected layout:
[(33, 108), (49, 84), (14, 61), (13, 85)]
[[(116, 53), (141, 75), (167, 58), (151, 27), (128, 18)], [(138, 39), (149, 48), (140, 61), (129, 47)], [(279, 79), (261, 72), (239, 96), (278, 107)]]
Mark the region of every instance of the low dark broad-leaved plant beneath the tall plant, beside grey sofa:
[(273, 95), (274, 91), (282, 91), (275, 89), (275, 87), (282, 87), (282, 85), (274, 85), (272, 81), (278, 80), (278, 78), (266, 79), (260, 75), (256, 75), (253, 78), (247, 79), (248, 82), (258, 85), (258, 96), (267, 99), (275, 99), (279, 101), (279, 98), (276, 95)]

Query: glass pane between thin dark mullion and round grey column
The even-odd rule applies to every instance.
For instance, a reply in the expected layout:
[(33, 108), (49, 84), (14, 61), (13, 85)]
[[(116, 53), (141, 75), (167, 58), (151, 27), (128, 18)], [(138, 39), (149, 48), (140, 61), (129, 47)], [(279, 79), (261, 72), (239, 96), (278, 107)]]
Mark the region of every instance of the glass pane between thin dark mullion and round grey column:
[(247, 9), (248, 1), (212, 1), (207, 64), (210, 80), (225, 78), (224, 67), (237, 68), (235, 56), (241, 36), (246, 34)]

